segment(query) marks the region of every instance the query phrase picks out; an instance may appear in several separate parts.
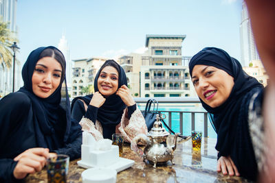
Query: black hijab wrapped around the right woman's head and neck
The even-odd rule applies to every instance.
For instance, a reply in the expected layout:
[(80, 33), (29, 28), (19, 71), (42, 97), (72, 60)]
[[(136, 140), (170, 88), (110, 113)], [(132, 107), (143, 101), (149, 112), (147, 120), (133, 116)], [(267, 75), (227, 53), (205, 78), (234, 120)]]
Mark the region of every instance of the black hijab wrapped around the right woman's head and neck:
[[(220, 156), (230, 155), (232, 143), (236, 134), (236, 126), (247, 121), (247, 116), (239, 115), (245, 95), (254, 88), (263, 88), (254, 77), (250, 77), (243, 71), (238, 60), (230, 57), (222, 49), (206, 47), (193, 56), (189, 62), (189, 73), (192, 77), (192, 70), (195, 65), (203, 64), (214, 66), (234, 77), (234, 86), (228, 99), (217, 108), (211, 108), (206, 103), (201, 103), (203, 108), (214, 114), (214, 127), (217, 132), (216, 149)], [(247, 122), (245, 123), (247, 125)]]

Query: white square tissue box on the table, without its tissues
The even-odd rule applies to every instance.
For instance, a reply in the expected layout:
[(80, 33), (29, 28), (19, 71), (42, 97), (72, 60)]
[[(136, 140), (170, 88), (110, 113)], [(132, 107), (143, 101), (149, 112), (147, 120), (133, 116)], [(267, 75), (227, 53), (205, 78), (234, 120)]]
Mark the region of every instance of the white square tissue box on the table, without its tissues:
[(91, 167), (107, 167), (118, 162), (118, 145), (111, 145), (111, 149), (100, 151), (92, 149), (91, 145), (81, 145), (81, 160)]

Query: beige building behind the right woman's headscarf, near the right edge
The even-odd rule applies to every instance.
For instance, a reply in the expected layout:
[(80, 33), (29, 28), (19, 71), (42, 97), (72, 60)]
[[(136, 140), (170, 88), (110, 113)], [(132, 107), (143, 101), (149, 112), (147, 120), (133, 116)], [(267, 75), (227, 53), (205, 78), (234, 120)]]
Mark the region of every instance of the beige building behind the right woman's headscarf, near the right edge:
[(265, 72), (261, 60), (252, 60), (250, 66), (243, 66), (243, 71), (248, 73), (248, 75), (255, 77), (261, 84), (263, 84), (263, 86), (267, 86), (269, 77)]

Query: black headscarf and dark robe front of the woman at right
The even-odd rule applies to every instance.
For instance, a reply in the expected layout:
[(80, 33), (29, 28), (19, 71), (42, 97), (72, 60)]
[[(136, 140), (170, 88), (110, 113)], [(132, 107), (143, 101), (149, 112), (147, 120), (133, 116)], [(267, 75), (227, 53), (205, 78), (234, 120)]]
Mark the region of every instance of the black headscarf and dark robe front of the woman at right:
[[(245, 172), (250, 169), (255, 175), (256, 165), (252, 163), (253, 167), (248, 167), (246, 166), (248, 162), (245, 161), (249, 156), (250, 160), (255, 162), (248, 132), (248, 106), (245, 105), (248, 105), (253, 93), (263, 90), (263, 85), (254, 77), (246, 74), (239, 61), (230, 57), (222, 49), (206, 47), (193, 56), (189, 63), (191, 77), (192, 69), (197, 64), (217, 67), (234, 77), (234, 86), (230, 96), (221, 106), (211, 108), (202, 99), (200, 100), (203, 108), (214, 114), (213, 123), (217, 131), (216, 149), (219, 151), (219, 156), (230, 155), (241, 175), (251, 178), (251, 175), (246, 175)], [(240, 139), (240, 136), (243, 139)]]

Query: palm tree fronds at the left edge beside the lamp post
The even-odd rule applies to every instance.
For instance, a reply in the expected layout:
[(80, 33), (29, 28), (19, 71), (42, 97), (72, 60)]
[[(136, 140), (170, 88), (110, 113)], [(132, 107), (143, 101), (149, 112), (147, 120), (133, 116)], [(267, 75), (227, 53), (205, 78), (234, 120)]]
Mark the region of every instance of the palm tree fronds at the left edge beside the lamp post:
[[(0, 18), (1, 19), (1, 18)], [(1, 21), (1, 20), (0, 20)], [(12, 45), (13, 38), (10, 36), (10, 29), (8, 23), (0, 22), (0, 64), (10, 68), (12, 66)]]

